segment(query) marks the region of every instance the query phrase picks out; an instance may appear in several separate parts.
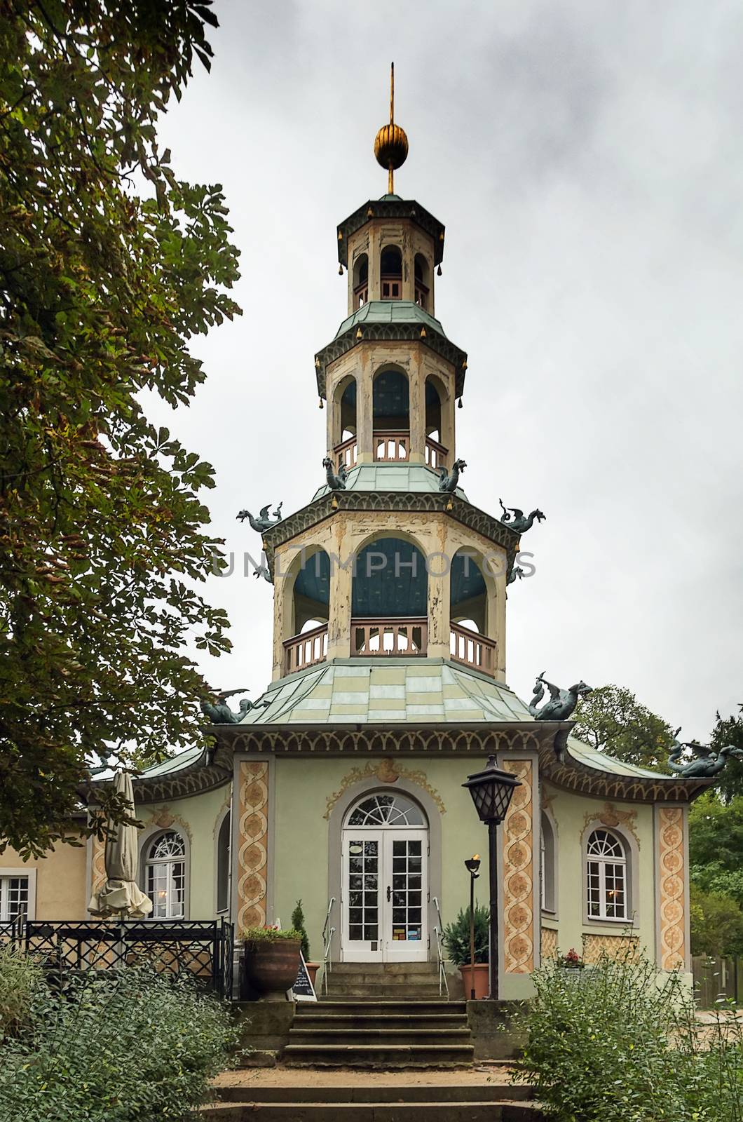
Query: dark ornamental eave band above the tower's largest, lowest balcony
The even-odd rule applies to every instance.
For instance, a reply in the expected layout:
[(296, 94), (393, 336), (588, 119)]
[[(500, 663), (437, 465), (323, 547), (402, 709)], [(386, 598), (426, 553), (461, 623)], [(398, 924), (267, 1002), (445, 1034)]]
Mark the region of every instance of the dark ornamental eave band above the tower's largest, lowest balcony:
[(266, 552), (268, 569), (273, 579), (274, 553), (276, 549), (292, 541), (297, 534), (317, 526), (324, 518), (331, 517), (337, 511), (402, 511), (405, 513), (448, 514), (457, 522), (487, 537), (495, 545), (501, 545), (508, 557), (508, 570), (519, 552), (521, 536), (505, 523), (498, 522), (471, 503), (458, 495), (446, 491), (361, 491), (338, 490), (321, 495), (301, 511), (295, 511), (282, 522), (267, 530), (263, 535), (263, 546)]

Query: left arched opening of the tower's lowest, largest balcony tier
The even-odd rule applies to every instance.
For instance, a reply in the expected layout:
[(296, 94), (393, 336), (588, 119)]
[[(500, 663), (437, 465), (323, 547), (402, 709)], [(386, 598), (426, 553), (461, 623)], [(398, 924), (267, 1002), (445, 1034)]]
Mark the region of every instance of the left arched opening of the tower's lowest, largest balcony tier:
[(319, 546), (302, 550), (285, 580), (291, 599), (284, 605), (290, 632), (284, 640), (284, 673), (291, 674), (328, 655), (330, 558)]

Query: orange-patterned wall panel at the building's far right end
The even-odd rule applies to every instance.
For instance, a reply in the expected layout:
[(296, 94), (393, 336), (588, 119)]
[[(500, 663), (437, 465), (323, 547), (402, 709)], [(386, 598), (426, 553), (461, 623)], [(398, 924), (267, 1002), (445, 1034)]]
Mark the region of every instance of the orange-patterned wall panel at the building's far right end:
[(684, 810), (658, 810), (658, 883), (660, 889), (660, 967), (673, 971), (686, 963), (686, 868)]

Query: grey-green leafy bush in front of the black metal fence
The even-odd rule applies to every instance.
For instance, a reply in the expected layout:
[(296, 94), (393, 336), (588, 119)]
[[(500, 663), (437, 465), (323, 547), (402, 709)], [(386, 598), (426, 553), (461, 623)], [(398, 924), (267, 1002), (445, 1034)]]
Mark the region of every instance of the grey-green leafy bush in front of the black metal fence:
[(39, 982), (29, 1030), (0, 1046), (0, 1116), (181, 1120), (228, 1066), (238, 1039), (229, 1008), (185, 975), (91, 971), (65, 996)]

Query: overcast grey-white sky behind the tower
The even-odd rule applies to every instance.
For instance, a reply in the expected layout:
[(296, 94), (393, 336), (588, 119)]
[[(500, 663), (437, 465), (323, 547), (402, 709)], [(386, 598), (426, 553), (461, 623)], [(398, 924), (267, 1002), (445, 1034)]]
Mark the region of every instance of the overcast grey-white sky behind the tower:
[[(468, 352), (457, 449), (477, 506), (541, 507), (508, 592), (507, 679), (529, 697), (616, 682), (705, 738), (737, 711), (743, 417), (743, 8), (734, 0), (226, 2), (211, 75), (163, 121), (178, 175), (224, 186), (244, 315), (199, 340), (190, 410), (150, 410), (217, 469), (213, 530), (323, 481), (314, 352), (346, 315), (336, 226), (396, 190), (447, 226), (437, 316)], [(272, 588), (211, 583), (233, 652), (270, 675)]]

